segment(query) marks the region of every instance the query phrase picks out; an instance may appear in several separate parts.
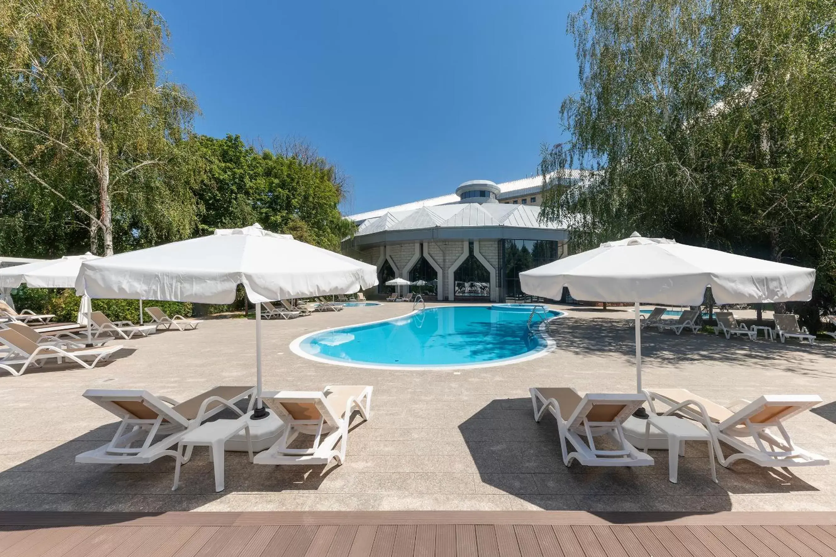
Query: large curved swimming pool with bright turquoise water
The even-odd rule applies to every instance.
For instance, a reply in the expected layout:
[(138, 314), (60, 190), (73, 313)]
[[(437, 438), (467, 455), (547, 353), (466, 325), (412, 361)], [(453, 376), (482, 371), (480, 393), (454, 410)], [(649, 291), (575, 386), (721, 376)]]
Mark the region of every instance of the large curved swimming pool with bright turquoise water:
[[(488, 367), (542, 356), (549, 340), (529, 332), (531, 308), (441, 306), (299, 337), (290, 348), (319, 362), (379, 369)], [(545, 311), (548, 319), (561, 311)], [(539, 322), (539, 320), (538, 320)]]

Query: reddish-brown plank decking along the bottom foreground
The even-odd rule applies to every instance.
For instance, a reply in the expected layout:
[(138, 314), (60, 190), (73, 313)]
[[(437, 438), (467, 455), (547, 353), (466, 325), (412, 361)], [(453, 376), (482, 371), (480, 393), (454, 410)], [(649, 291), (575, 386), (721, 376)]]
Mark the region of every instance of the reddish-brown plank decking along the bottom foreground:
[[(432, 513), (429, 513), (432, 514)], [(0, 519), (0, 557), (828, 557), (836, 555), (836, 520), (802, 519), (782, 514), (785, 524), (749, 524), (743, 516), (724, 524), (707, 517), (668, 522), (569, 524), (557, 520), (543, 524), (475, 523), (431, 524), (414, 515), (402, 523), (338, 524), (329, 515), (326, 524), (314, 524), (303, 514), (298, 524), (264, 524), (265, 516), (183, 517), (153, 521), (131, 515), (120, 522), (62, 526), (60, 519), (45, 517), (45, 524), (3, 524)], [(0, 515), (2, 517), (3, 515)], [(36, 515), (32, 515), (37, 518)], [(347, 515), (350, 516), (350, 515)], [(480, 514), (480, 516), (485, 516)], [(520, 519), (535, 514), (518, 514)], [(140, 518), (140, 519), (137, 519)], [(187, 520), (183, 520), (188, 518)], [(354, 520), (349, 522), (356, 522)], [(722, 518), (722, 517), (721, 517)], [(774, 517), (772, 517), (774, 518)], [(836, 517), (834, 517), (836, 518)], [(64, 523), (66, 520), (64, 520)], [(818, 523), (818, 524), (817, 524)]]

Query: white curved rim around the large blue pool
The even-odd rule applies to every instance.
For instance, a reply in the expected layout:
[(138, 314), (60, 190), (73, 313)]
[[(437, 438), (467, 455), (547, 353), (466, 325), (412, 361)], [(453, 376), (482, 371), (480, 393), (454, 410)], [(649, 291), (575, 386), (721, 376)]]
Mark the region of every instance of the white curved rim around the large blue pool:
[[(472, 306), (482, 306), (482, 307), (491, 307), (493, 304), (445, 304), (443, 306), (433, 306), (433, 307), (454, 307), (454, 306), (462, 306), (462, 307), (472, 307)], [(414, 371), (414, 372), (440, 372), (440, 371), (452, 371), (457, 369), (477, 369), (479, 367), (498, 367), (498, 366), (507, 366), (511, 363), (519, 363), (519, 362), (528, 362), (528, 360), (535, 360), (538, 357), (543, 357), (546, 354), (553, 352), (554, 348), (557, 347), (557, 343), (554, 342), (552, 337), (543, 333), (543, 329), (546, 327), (548, 322), (552, 322), (555, 319), (559, 319), (563, 316), (566, 316), (565, 311), (560, 310), (552, 310), (558, 311), (560, 315), (553, 316), (546, 321), (540, 322), (537, 327), (537, 331), (534, 333), (536, 334), (543, 342), (546, 343), (546, 346), (540, 348), (539, 350), (531, 350), (529, 352), (524, 353), (521, 356), (515, 357), (507, 357), (502, 358), (499, 360), (492, 360), (491, 362), (480, 362), (480, 363), (472, 363), (472, 364), (458, 364), (458, 363), (451, 363), (445, 365), (436, 365), (436, 366), (411, 366), (411, 365), (403, 365), (398, 366), (395, 364), (380, 364), (380, 363), (363, 363), (363, 362), (348, 362), (345, 360), (337, 360), (331, 358), (324, 358), (315, 356), (314, 354), (310, 354), (305, 352), (302, 349), (302, 342), (305, 341), (308, 337), (313, 337), (314, 335), (318, 335), (321, 332), (334, 332), (339, 331), (341, 329), (350, 329), (352, 327), (362, 327), (364, 325), (374, 325), (375, 323), (383, 323), (383, 322), (390, 322), (394, 321), (395, 319), (403, 319), (404, 317), (408, 317), (411, 315), (415, 315), (421, 310), (413, 310), (409, 313), (405, 313), (402, 316), (395, 316), (395, 317), (387, 317), (386, 319), (377, 319), (375, 321), (364, 322), (364, 323), (354, 323), (354, 325), (344, 325), (343, 327), (326, 327), (324, 329), (320, 329), (319, 331), (308, 332), (308, 334), (302, 335), (301, 337), (296, 337), (293, 341), (290, 342), (290, 351), (296, 354), (297, 356), (303, 357), (306, 360), (311, 360), (313, 362), (320, 362), (320, 363), (329, 363), (333, 366), (343, 366), (343, 367), (364, 367), (365, 369), (389, 369), (394, 371)]]

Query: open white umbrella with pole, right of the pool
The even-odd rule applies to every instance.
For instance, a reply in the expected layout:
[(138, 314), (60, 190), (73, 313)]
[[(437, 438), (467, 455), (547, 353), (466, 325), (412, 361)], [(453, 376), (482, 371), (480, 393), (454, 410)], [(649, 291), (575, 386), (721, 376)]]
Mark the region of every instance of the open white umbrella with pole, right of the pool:
[(633, 302), (636, 387), (641, 392), (642, 301), (698, 306), (706, 287), (718, 304), (808, 301), (815, 269), (686, 246), (637, 232), (621, 241), (520, 273), (527, 294), (558, 300), (567, 286), (576, 300)]

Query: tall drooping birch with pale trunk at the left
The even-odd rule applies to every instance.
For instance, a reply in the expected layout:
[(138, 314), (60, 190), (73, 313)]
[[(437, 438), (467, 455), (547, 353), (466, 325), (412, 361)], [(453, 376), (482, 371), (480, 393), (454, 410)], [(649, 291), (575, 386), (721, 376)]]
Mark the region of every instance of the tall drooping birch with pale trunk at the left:
[[(114, 252), (114, 220), (187, 234), (187, 188), (161, 184), (191, 94), (164, 81), (167, 29), (135, 0), (17, 0), (0, 9), (0, 157), (6, 187), (41, 188)], [(131, 228), (130, 230), (134, 230)], [(100, 249), (99, 241), (100, 238)]]

